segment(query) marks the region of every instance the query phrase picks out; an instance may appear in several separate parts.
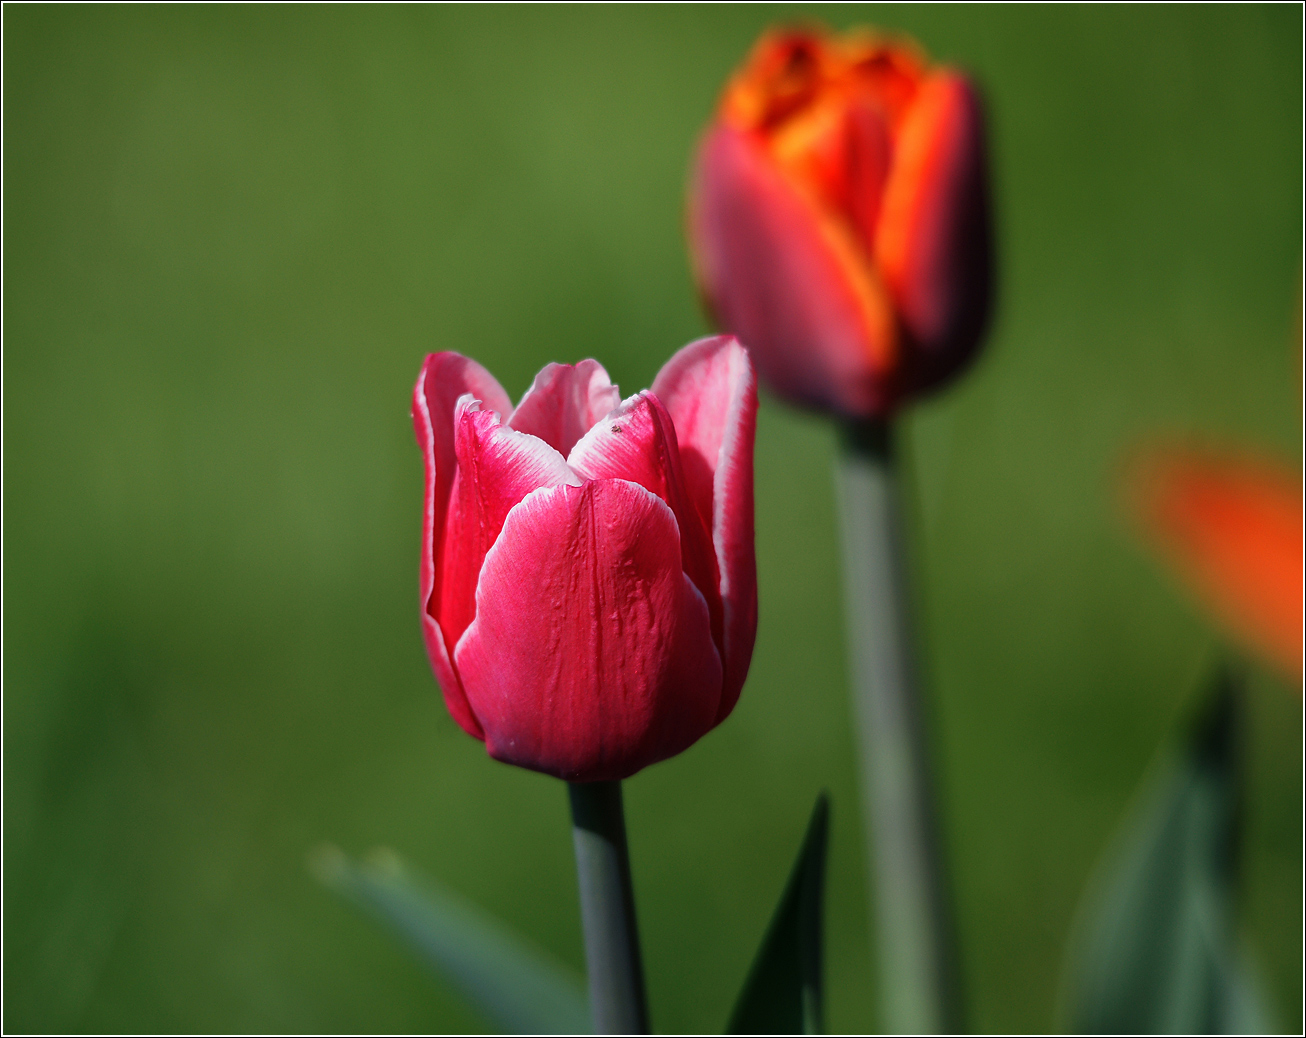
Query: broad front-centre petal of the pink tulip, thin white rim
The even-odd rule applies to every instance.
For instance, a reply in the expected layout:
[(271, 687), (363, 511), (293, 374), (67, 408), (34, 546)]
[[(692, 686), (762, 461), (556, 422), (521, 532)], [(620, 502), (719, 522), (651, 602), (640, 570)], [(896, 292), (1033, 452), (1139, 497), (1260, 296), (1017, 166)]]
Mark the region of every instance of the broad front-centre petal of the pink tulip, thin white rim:
[(721, 659), (675, 517), (622, 479), (508, 513), (454, 659), (490, 755), (573, 782), (679, 753), (718, 713)]

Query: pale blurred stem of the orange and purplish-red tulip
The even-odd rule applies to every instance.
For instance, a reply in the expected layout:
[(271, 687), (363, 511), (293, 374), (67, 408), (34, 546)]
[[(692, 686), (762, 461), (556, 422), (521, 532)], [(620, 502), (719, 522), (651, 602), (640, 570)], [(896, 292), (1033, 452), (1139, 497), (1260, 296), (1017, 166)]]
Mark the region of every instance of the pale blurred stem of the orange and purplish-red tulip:
[(844, 593), (883, 1029), (961, 1029), (951, 905), (914, 659), (897, 464), (887, 422), (844, 426)]

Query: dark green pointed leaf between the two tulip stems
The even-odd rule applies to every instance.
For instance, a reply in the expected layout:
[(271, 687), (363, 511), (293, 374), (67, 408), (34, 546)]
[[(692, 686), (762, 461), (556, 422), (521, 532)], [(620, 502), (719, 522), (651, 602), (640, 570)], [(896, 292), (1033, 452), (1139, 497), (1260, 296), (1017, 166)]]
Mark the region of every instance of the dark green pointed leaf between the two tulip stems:
[(820, 1034), (821, 909), (829, 796), (816, 798), (798, 860), (748, 970), (727, 1034)]

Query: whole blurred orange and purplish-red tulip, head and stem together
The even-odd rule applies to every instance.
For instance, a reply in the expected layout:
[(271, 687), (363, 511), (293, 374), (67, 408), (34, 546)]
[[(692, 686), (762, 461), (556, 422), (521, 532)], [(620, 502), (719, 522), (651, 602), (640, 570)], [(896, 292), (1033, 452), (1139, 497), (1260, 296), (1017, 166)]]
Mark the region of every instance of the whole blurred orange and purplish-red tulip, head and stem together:
[(844, 419), (848, 644), (883, 1029), (957, 1029), (891, 419), (960, 371), (987, 322), (974, 86), (910, 42), (865, 30), (765, 34), (699, 144), (688, 236), (704, 302), (747, 343), (760, 376), (790, 402)]

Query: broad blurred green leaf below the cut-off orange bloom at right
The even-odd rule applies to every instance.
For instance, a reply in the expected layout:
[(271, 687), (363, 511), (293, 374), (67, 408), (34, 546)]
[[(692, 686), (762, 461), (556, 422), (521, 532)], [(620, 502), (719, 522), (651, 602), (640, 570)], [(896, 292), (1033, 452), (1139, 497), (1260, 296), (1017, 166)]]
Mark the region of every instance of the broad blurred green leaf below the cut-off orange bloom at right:
[(1063, 982), (1074, 1031), (1267, 1029), (1234, 935), (1241, 689), (1226, 671), (1215, 685), (1085, 894)]

